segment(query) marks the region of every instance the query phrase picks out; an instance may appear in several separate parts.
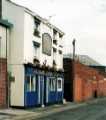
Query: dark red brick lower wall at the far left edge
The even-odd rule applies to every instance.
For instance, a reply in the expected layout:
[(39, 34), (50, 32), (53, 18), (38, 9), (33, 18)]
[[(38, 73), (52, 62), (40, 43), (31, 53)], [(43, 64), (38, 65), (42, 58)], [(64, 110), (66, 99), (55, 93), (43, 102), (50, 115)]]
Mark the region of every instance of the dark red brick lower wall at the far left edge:
[(0, 59), (0, 108), (6, 107), (6, 86), (7, 86), (7, 65), (6, 59)]

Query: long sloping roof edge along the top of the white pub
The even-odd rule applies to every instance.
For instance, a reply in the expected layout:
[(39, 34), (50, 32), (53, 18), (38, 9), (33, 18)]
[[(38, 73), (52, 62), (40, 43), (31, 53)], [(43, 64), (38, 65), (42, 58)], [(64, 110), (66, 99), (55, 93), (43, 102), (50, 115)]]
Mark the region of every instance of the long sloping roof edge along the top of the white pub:
[(48, 25), (50, 28), (52, 29), (55, 29), (56, 31), (58, 31), (60, 34), (64, 35), (65, 33), (63, 31), (61, 31), (59, 28), (57, 28), (55, 25), (51, 24), (47, 19), (45, 18), (42, 18), (41, 16), (39, 16), (37, 13), (33, 12), (32, 10), (30, 10), (29, 8), (27, 7), (24, 7), (22, 5), (19, 5), (19, 4), (16, 4), (14, 3), (13, 1), (11, 0), (7, 0), (8, 2), (16, 5), (16, 6), (19, 6), (21, 8), (24, 8), (24, 10), (26, 12), (28, 12), (29, 14), (31, 14), (32, 16), (36, 17), (37, 19), (39, 19), (40, 21), (42, 21), (44, 24)]

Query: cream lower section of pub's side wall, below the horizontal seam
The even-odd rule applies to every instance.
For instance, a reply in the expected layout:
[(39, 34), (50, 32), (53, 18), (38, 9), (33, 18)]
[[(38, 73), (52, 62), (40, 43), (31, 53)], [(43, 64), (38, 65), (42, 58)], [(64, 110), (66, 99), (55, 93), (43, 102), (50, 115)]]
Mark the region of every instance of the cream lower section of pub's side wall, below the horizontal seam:
[(24, 106), (24, 66), (10, 65), (12, 76), (15, 81), (11, 81), (11, 106)]

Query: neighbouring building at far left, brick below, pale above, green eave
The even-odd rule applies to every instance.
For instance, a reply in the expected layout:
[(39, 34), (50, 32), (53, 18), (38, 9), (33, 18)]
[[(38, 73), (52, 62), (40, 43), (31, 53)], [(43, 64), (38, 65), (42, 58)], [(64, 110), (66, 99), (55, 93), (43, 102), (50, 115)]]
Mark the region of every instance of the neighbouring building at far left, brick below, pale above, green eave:
[(11, 24), (0, 19), (0, 108), (8, 105), (7, 54)]

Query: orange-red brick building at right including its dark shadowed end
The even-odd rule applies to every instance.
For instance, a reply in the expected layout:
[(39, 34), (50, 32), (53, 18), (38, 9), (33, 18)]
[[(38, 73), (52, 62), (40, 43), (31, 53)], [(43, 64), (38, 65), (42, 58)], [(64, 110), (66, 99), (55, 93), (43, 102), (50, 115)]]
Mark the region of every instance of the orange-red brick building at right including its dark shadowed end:
[(106, 74), (71, 59), (64, 59), (64, 97), (81, 102), (106, 96)]

